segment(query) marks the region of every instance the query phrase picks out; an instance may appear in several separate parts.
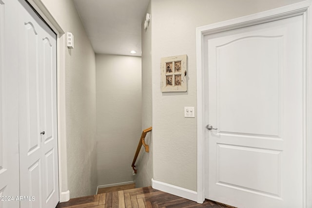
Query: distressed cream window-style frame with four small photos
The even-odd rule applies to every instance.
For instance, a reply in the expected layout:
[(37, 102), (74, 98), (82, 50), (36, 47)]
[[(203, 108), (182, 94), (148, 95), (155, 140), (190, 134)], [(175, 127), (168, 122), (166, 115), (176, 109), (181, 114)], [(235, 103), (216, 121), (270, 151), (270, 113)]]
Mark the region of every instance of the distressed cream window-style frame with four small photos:
[(187, 56), (161, 58), (161, 92), (187, 91)]

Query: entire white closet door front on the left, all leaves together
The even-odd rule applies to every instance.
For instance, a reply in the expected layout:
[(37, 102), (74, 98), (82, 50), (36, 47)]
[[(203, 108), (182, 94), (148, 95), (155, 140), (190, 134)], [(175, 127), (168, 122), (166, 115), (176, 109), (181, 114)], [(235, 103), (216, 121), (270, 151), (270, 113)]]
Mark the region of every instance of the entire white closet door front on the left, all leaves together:
[(59, 202), (56, 35), (24, 0), (0, 0), (0, 15), (5, 19), (4, 26), (0, 23), (0, 43), (6, 55), (0, 53), (4, 152), (0, 195), (14, 196), (13, 201), (0, 203), (3, 208), (55, 208)]

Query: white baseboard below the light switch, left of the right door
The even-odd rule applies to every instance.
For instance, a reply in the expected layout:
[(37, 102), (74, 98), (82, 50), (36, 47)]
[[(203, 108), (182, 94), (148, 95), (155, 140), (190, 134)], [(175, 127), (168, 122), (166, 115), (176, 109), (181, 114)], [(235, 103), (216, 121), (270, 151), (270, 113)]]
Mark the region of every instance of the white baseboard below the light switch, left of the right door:
[(152, 187), (153, 189), (161, 190), (197, 202), (197, 192), (194, 190), (184, 189), (171, 184), (156, 181), (153, 178)]

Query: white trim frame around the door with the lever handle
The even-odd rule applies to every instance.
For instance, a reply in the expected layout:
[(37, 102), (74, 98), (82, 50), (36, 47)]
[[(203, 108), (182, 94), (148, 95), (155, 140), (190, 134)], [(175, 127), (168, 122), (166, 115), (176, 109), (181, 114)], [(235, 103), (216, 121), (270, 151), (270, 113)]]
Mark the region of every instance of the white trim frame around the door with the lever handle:
[(196, 28), (197, 64), (197, 202), (205, 200), (205, 87), (204, 36), (278, 19), (302, 16), (304, 22), (304, 150), (303, 205), (312, 207), (312, 0)]

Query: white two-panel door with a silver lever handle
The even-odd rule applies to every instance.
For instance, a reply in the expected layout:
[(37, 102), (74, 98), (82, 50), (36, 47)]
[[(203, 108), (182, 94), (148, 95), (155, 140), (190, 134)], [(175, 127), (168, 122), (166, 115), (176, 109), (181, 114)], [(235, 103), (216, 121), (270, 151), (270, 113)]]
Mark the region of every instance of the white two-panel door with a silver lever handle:
[(206, 198), (303, 204), (303, 19), (206, 36)]

